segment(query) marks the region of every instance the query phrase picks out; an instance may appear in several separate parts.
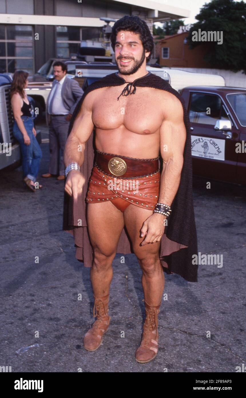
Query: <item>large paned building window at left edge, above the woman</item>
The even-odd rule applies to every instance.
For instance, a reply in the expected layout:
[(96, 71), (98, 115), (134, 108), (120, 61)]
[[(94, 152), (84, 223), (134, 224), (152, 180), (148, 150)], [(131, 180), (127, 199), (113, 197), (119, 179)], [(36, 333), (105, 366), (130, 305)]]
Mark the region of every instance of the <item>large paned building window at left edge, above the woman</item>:
[(33, 73), (33, 27), (0, 25), (0, 73), (15, 70)]

